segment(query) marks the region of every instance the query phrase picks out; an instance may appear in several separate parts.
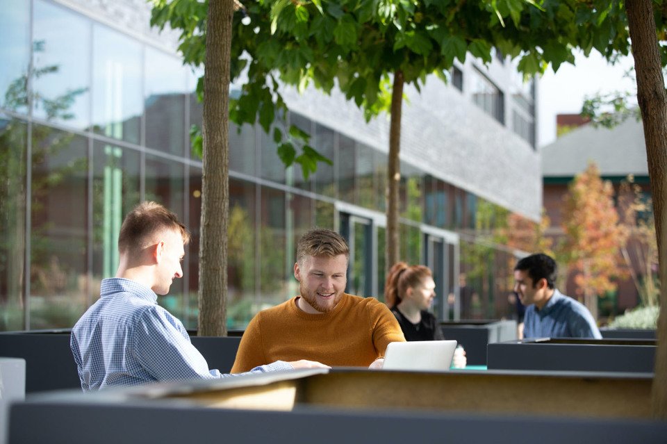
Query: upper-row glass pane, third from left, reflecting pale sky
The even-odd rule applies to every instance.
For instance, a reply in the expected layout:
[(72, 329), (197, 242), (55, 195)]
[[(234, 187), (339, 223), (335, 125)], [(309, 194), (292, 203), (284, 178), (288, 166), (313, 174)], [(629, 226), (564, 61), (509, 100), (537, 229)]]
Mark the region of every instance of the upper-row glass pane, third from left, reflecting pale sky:
[(95, 24), (92, 48), (94, 131), (139, 143), (143, 112), (141, 45), (106, 26)]

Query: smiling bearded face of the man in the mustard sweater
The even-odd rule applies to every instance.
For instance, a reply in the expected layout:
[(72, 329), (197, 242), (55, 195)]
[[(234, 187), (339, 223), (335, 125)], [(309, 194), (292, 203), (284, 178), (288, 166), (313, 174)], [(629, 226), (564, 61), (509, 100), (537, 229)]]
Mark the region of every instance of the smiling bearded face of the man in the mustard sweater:
[[(294, 264), (294, 277), (308, 313), (327, 313), (340, 302), (347, 283), (347, 256), (306, 256)], [(312, 310), (311, 310), (312, 309)]]

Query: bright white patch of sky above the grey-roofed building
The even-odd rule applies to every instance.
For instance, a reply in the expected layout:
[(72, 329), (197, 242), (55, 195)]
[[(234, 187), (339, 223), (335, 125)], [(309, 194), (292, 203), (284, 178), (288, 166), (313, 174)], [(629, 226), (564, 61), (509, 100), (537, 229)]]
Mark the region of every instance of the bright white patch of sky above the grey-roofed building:
[(581, 52), (575, 54), (575, 65), (563, 64), (556, 74), (549, 67), (538, 83), (538, 146), (556, 140), (556, 115), (581, 113), (586, 97), (597, 92), (635, 91), (634, 81), (625, 77), (633, 63), (628, 56), (611, 66), (591, 51), (588, 58)]

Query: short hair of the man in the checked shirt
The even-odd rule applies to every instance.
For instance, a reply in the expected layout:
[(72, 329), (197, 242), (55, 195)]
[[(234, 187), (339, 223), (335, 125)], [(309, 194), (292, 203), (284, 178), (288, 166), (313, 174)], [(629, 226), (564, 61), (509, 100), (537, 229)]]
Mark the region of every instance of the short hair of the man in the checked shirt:
[(136, 252), (163, 230), (181, 233), (183, 245), (190, 242), (190, 233), (176, 214), (156, 202), (142, 202), (125, 216), (118, 236), (118, 251)]

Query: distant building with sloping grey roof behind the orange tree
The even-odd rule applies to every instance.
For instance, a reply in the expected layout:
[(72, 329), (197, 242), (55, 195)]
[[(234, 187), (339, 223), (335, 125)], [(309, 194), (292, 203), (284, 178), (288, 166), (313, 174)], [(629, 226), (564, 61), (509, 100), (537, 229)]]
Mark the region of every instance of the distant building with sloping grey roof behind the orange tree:
[[(559, 122), (579, 127), (570, 129), (565, 135), (542, 149), (543, 202), (546, 214), (550, 218), (547, 234), (556, 242), (564, 236), (561, 228), (563, 222), (561, 206), (568, 193), (568, 186), (577, 174), (586, 170), (589, 162), (594, 162), (598, 166), (603, 180), (611, 181), (614, 185), (617, 202), (620, 184), (627, 181), (629, 175), (632, 176), (634, 183), (641, 186), (643, 199), (647, 202), (650, 199), (650, 180), (641, 122), (631, 118), (613, 129), (595, 127), (571, 118), (563, 118)], [(623, 211), (619, 213), (622, 217)], [(652, 217), (652, 212), (643, 217)], [(632, 258), (632, 264), (638, 263), (636, 259)], [(642, 274), (645, 270), (640, 267), (636, 272)], [(577, 297), (581, 291), (577, 288), (573, 275), (570, 274), (568, 278), (564, 291), (568, 295)], [(636, 306), (638, 298), (639, 293), (632, 279), (629, 277), (618, 279), (616, 294), (598, 299), (600, 315), (623, 313), (625, 309)]]

